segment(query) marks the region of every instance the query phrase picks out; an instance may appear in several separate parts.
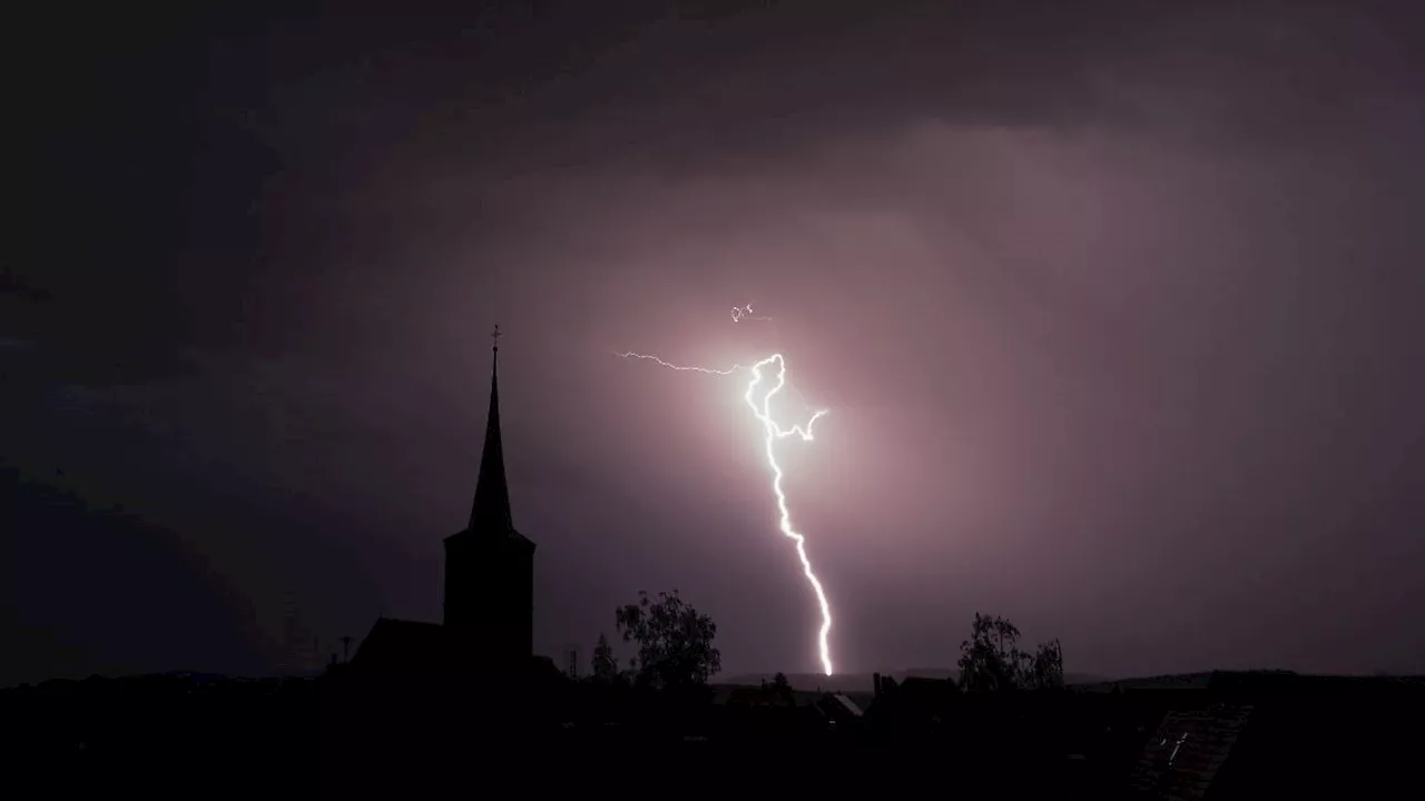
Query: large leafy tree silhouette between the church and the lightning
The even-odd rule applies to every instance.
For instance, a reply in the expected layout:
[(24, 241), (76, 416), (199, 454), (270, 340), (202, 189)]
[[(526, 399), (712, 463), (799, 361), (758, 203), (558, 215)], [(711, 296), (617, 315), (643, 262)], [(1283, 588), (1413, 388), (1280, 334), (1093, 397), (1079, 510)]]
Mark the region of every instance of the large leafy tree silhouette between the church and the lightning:
[(638, 593), (638, 603), (614, 610), (614, 621), (626, 643), (638, 644), (633, 663), (640, 684), (681, 690), (707, 684), (722, 668), (722, 654), (712, 646), (717, 624), (698, 614), (693, 604), (678, 597), (678, 591)]

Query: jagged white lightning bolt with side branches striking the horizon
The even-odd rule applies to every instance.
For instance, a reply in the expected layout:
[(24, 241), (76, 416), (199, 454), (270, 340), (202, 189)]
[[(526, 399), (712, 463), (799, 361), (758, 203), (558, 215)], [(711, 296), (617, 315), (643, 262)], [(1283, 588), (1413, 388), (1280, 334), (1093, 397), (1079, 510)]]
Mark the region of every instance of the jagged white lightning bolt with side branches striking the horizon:
[[(732, 309), (732, 322), (750, 319), (747, 315), (751, 314), (752, 314), (752, 306), (735, 306)], [(758, 318), (751, 318), (751, 319), (758, 319)], [(771, 319), (771, 318), (764, 318), (764, 319)], [(707, 375), (732, 375), (744, 369), (751, 371), (752, 378), (747, 383), (747, 393), (742, 395), (742, 399), (747, 402), (747, 408), (752, 410), (752, 416), (757, 418), (757, 422), (762, 425), (767, 466), (771, 467), (772, 470), (772, 495), (777, 497), (778, 527), (781, 529), (785, 537), (797, 543), (797, 557), (802, 563), (802, 573), (807, 576), (807, 582), (811, 584), (812, 591), (817, 593), (817, 603), (821, 606), (821, 630), (817, 636), (817, 644), (821, 651), (821, 667), (822, 670), (826, 671), (826, 676), (831, 676), (832, 671), (831, 646), (829, 646), (831, 603), (826, 600), (826, 590), (822, 589), (821, 580), (817, 579), (817, 573), (815, 570), (812, 570), (811, 559), (807, 556), (807, 537), (792, 526), (791, 507), (787, 503), (787, 493), (782, 490), (782, 467), (777, 462), (777, 448), (775, 448), (778, 440), (787, 439), (789, 436), (798, 436), (804, 442), (811, 442), (814, 439), (812, 426), (815, 426), (817, 420), (819, 420), (822, 416), (826, 415), (826, 409), (812, 412), (811, 419), (807, 420), (805, 426), (782, 428), (777, 423), (777, 419), (772, 418), (772, 398), (788, 386), (787, 359), (782, 358), (781, 353), (772, 353), (771, 356), (767, 356), (765, 359), (750, 366), (732, 365), (731, 368), (722, 371), (712, 368), (700, 368), (694, 365), (675, 365), (648, 353), (624, 352), (618, 353), (618, 356), (624, 359), (646, 359), (663, 368), (674, 371), (693, 371)], [(757, 388), (761, 386), (762, 382), (765, 381), (762, 369), (767, 368), (768, 365), (777, 366), (777, 379), (775, 379), (777, 383), (765, 395), (762, 395), (761, 405), (758, 405)]]

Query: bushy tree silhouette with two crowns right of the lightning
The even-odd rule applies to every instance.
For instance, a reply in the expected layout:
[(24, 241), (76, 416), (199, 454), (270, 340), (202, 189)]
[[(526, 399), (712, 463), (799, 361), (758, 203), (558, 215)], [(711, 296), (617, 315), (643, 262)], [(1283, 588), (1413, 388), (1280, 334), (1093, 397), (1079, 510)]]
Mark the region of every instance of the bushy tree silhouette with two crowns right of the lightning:
[(1056, 690), (1064, 686), (1059, 640), (1033, 654), (1019, 650), (1019, 629), (1009, 620), (975, 613), (970, 639), (960, 643), (960, 687), (970, 691)]

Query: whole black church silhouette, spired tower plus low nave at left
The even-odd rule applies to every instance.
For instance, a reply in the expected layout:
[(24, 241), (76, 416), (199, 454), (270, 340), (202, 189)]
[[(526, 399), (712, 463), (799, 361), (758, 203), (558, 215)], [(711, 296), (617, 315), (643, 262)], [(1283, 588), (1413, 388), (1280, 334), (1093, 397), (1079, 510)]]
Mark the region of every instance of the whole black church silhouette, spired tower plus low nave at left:
[[(533, 656), (534, 543), (514, 529), (500, 438), (499, 326), (470, 520), (445, 539), (443, 624), (379, 617), (348, 671), (362, 677), (514, 677)], [(546, 664), (540, 664), (546, 663)]]

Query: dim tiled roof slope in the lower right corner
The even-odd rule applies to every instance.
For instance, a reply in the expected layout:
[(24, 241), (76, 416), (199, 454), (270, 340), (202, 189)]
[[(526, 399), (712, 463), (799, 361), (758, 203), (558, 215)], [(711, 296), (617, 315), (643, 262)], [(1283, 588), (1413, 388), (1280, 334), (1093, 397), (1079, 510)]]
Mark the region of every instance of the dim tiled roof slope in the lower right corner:
[(1250, 717), (1251, 707), (1166, 714), (1133, 770), (1133, 790), (1141, 798), (1206, 797)]

